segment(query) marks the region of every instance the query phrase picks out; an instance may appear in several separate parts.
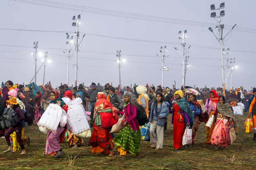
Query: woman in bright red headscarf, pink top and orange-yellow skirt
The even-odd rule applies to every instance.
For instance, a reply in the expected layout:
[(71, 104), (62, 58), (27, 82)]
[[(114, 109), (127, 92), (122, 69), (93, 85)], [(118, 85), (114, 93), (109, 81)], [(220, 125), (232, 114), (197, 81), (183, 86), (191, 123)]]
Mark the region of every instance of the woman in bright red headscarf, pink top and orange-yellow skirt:
[[(209, 114), (209, 118), (211, 117), (212, 114), (215, 113), (218, 102), (219, 102), (219, 96), (217, 95), (215, 90), (211, 90), (210, 98), (208, 98), (205, 102), (205, 111), (204, 111)], [(215, 125), (215, 122), (212, 123), (211, 128), (207, 127), (206, 129), (206, 144), (211, 145), (211, 134), (214, 129), (214, 125)]]

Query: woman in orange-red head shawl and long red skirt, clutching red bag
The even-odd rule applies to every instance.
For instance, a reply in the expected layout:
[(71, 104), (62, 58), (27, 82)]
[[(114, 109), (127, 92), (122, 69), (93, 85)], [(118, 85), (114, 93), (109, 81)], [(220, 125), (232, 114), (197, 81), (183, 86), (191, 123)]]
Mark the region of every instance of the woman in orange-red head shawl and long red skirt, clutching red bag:
[(112, 113), (118, 120), (116, 108), (107, 100), (104, 93), (99, 92), (97, 95), (93, 114), (93, 133), (89, 140), (88, 146), (92, 146), (92, 153), (104, 153), (109, 156), (114, 155), (112, 151), (114, 143), (109, 128), (102, 128), (100, 116), (104, 113)]

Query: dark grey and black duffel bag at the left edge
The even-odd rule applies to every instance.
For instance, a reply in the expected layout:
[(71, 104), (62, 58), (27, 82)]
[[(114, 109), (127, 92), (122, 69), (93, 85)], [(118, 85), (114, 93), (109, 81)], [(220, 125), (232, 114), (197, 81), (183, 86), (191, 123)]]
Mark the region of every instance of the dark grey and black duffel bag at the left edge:
[(17, 113), (13, 108), (5, 108), (3, 114), (0, 116), (0, 130), (5, 130), (16, 125), (18, 122)]

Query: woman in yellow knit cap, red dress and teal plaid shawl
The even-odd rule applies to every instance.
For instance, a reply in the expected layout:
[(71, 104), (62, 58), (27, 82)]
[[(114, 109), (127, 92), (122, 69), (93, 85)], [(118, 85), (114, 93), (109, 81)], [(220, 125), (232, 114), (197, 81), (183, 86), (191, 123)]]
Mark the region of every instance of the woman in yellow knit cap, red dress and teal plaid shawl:
[[(176, 152), (182, 147), (182, 137), (185, 128), (194, 124), (194, 113), (191, 112), (187, 101), (183, 98), (182, 90), (174, 93), (173, 99), (173, 146)], [(184, 146), (186, 148), (187, 145)]]

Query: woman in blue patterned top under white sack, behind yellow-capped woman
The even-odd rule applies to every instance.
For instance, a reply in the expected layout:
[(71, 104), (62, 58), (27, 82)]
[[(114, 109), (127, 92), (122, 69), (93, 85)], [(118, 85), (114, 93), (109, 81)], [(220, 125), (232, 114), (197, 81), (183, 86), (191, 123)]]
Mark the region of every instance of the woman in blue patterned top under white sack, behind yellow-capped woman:
[(194, 94), (189, 94), (189, 108), (194, 113), (194, 124), (192, 127), (192, 145), (194, 145), (194, 138), (196, 135), (196, 131), (199, 129), (199, 124), (201, 123), (199, 120), (199, 116), (202, 113), (202, 108), (200, 104), (197, 102)]

